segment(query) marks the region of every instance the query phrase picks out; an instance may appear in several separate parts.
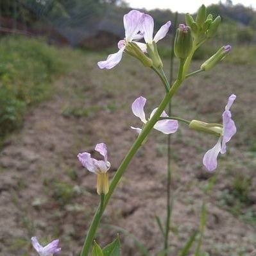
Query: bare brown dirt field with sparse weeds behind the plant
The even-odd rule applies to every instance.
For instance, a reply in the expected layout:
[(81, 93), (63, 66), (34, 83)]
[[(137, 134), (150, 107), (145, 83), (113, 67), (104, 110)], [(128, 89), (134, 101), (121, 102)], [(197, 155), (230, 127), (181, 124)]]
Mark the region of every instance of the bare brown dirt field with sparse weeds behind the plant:
[[(77, 54), (72, 71), (55, 81), (51, 99), (31, 110), (24, 127), (8, 138), (0, 153), (0, 254), (36, 255), (30, 237), (42, 242), (58, 237), (63, 256), (79, 255), (85, 230), (98, 205), (96, 176), (76, 155), (94, 152), (105, 142), (113, 175), (137, 136), (140, 126), (131, 104), (148, 99), (148, 113), (157, 107), (164, 87), (151, 70), (124, 58), (110, 71), (96, 63), (105, 55)], [(193, 64), (192, 69), (200, 66)], [(166, 62), (165, 69), (169, 69)], [(237, 134), (221, 155), (216, 184), (203, 192), (210, 176), (202, 158), (216, 138), (196, 133), (185, 124), (172, 136), (172, 190), (180, 188), (172, 217), (169, 255), (198, 228), (200, 205), (207, 203), (203, 248), (211, 256), (253, 256), (256, 247), (256, 94), (255, 68), (221, 64), (210, 73), (189, 78), (173, 101), (173, 115), (221, 122), (230, 94), (237, 95), (232, 114)], [(121, 226), (153, 254), (162, 249), (155, 223), (166, 209), (166, 135), (153, 131), (128, 167), (110, 200), (102, 223)], [(101, 225), (97, 241), (103, 246), (117, 231)], [(132, 240), (120, 234), (123, 256), (139, 256)], [(192, 255), (192, 254), (191, 254)]]

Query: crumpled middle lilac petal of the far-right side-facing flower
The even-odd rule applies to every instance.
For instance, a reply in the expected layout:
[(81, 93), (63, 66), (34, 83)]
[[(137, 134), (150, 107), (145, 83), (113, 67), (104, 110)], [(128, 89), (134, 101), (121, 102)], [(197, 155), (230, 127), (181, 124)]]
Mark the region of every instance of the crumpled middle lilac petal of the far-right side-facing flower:
[(230, 139), (237, 132), (237, 128), (235, 127), (235, 122), (231, 118), (231, 112), (226, 110), (223, 112), (223, 139), (221, 144), (221, 154), (226, 153), (226, 143), (230, 141)]

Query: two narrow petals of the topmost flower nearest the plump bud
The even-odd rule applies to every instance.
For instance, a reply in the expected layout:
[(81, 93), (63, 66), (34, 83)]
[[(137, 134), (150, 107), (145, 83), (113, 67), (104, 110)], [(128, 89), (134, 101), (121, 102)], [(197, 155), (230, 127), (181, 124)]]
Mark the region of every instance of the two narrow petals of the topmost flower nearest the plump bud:
[(162, 38), (166, 37), (167, 32), (169, 31), (169, 27), (171, 26), (171, 21), (167, 21), (160, 30), (157, 31), (155, 37), (153, 38), (154, 31), (154, 20), (148, 15), (144, 14), (144, 21), (142, 22), (141, 32), (144, 35), (144, 40), (147, 44), (152, 44), (154, 42), (158, 42)]

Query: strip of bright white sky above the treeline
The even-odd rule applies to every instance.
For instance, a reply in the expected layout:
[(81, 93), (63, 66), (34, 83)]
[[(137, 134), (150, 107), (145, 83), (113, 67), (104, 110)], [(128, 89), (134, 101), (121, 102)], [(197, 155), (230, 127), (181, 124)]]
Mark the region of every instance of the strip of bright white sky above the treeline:
[[(212, 3), (219, 3), (219, 0), (126, 0), (125, 2), (132, 8), (145, 8), (146, 10), (160, 8), (170, 9), (173, 12), (194, 13), (201, 4), (207, 6)], [(222, 1), (222, 3), (225, 2), (225, 0)], [(252, 8), (256, 10), (255, 0), (233, 0), (232, 3), (243, 3), (244, 6), (252, 6)]]

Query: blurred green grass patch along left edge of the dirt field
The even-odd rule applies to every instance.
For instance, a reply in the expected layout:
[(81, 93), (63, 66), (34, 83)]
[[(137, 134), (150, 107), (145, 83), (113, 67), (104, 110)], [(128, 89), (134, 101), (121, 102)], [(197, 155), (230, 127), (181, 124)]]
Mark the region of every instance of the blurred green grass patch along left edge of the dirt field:
[(28, 107), (52, 94), (53, 77), (65, 70), (61, 57), (44, 40), (0, 41), (0, 140), (20, 126)]

